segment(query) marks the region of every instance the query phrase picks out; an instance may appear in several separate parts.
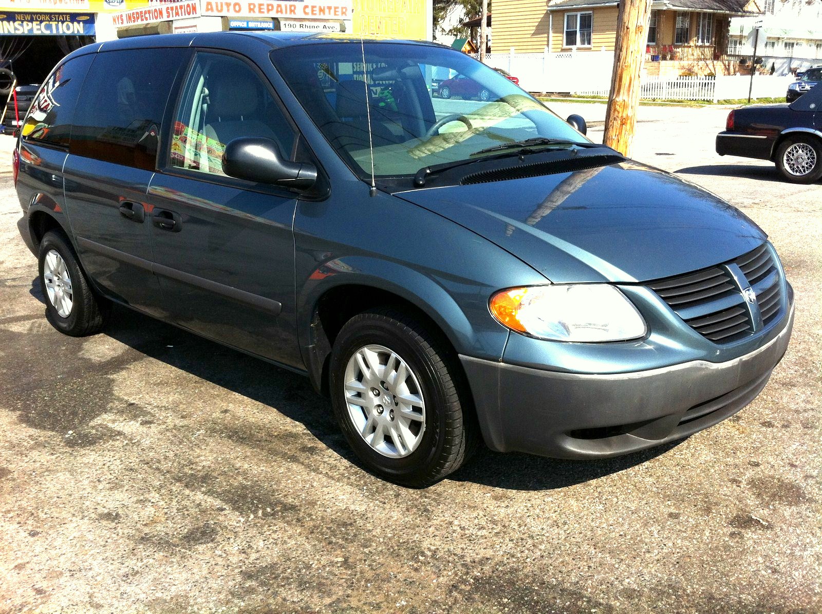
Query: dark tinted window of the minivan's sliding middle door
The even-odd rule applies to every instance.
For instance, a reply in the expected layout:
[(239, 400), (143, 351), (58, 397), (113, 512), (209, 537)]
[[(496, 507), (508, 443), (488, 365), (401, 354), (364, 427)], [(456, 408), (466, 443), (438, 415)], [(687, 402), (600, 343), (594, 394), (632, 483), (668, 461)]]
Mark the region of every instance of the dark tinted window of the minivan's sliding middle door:
[(97, 53), (80, 96), (71, 153), (154, 170), (160, 124), (185, 48)]

